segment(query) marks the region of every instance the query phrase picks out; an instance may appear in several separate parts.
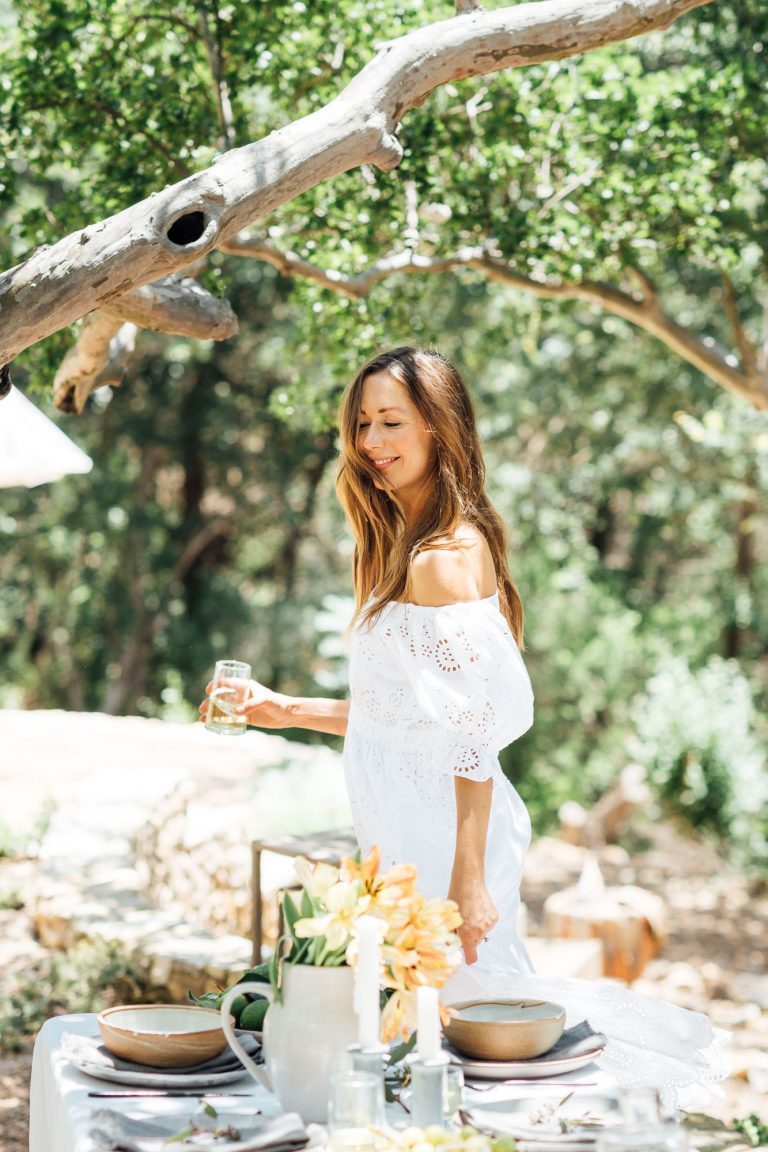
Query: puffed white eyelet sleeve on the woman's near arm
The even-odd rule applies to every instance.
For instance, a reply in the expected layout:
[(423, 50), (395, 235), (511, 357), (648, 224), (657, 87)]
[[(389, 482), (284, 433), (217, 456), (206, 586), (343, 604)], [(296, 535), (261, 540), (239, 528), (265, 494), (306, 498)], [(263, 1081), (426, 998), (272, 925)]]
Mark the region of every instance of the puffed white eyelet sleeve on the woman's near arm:
[(401, 605), (393, 638), (428, 721), (455, 744), (457, 775), (487, 780), (499, 752), (533, 723), (533, 691), (495, 598), (431, 608)]

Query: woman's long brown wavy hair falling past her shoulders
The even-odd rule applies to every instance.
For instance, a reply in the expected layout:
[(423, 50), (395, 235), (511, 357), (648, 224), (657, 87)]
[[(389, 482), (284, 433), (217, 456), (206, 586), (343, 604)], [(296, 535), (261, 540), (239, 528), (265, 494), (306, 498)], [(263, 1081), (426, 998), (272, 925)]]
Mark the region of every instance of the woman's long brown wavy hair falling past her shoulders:
[[(359, 448), (363, 385), (390, 372), (404, 386), (435, 438), (429, 498), (419, 518), (406, 524), (394, 493)], [(339, 411), (341, 460), (336, 492), (355, 535), (355, 599), (359, 613), (375, 617), (390, 600), (408, 596), (410, 563), (426, 548), (446, 547), (462, 522), (473, 524), (491, 548), (499, 600), (517, 644), (523, 646), (523, 604), (507, 566), (504, 526), (485, 493), (485, 463), (472, 401), (458, 371), (440, 353), (395, 348), (364, 364), (344, 392)]]

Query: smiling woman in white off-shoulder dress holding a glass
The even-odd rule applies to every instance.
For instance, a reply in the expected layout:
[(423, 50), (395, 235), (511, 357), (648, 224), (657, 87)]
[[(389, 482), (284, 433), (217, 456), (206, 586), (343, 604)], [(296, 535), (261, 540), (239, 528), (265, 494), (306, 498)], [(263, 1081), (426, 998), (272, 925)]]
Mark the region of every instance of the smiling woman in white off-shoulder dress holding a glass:
[(261, 728), (345, 736), (363, 850), (416, 864), (427, 895), (458, 904), (466, 964), (446, 999), (555, 999), (569, 1023), (586, 1017), (609, 1036), (603, 1063), (616, 1075), (653, 1049), (651, 1078), (669, 1097), (714, 1078), (705, 1017), (532, 973), (516, 924), (531, 828), (499, 765), (533, 720), (523, 609), (458, 372), (424, 349), (374, 357), (342, 399), (340, 433), (337, 492), (356, 545), (350, 702), (253, 683), (239, 711)]

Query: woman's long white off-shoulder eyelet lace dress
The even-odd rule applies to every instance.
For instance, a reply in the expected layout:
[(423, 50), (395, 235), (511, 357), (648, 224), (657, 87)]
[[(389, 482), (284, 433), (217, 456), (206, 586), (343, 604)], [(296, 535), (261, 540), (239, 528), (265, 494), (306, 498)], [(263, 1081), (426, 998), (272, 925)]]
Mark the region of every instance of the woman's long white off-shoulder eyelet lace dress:
[(517, 931), (527, 811), (499, 752), (533, 722), (533, 692), (497, 596), (446, 607), (393, 602), (352, 632), (344, 771), (364, 852), (382, 867), (415, 864), (428, 896), (448, 893), (456, 840), (454, 776), (493, 780), (486, 885), (499, 923), (443, 990), (554, 1000), (570, 1026), (608, 1043), (600, 1064), (619, 1083), (653, 1084), (671, 1105), (700, 1107), (727, 1075), (727, 1033), (706, 1016), (609, 982), (540, 977)]

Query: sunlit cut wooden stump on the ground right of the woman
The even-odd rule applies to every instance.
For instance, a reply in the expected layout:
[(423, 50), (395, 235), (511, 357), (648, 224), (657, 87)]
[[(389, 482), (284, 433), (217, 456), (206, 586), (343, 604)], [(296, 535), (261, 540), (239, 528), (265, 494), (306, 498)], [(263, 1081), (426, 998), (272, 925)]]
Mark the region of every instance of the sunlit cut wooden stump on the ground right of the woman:
[(603, 975), (628, 983), (640, 975), (664, 941), (663, 901), (632, 885), (590, 896), (579, 888), (565, 888), (545, 901), (543, 911), (547, 935), (602, 940)]

